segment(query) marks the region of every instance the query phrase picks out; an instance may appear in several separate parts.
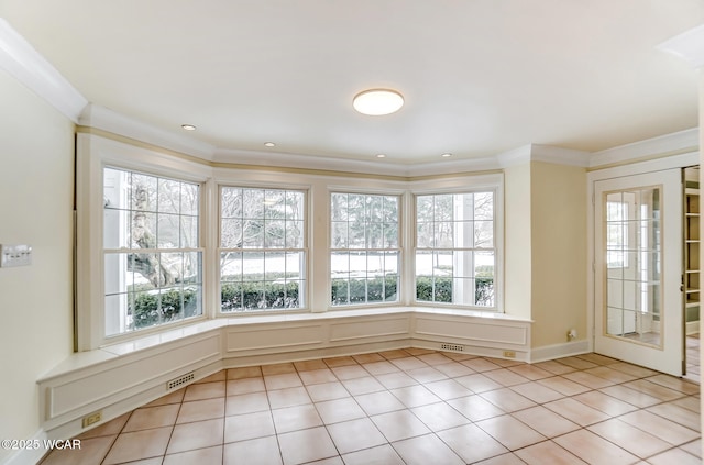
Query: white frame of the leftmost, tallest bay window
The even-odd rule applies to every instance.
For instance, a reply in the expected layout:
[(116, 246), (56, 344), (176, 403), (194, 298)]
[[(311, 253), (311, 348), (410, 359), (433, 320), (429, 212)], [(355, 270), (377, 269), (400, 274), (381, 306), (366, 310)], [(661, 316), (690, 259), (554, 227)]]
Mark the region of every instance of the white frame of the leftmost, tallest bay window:
[[(199, 186), (198, 250), (201, 253), (201, 314), (157, 324), (136, 331), (106, 334), (106, 278), (103, 231), (106, 168), (197, 184)], [(165, 333), (209, 318), (207, 224), (210, 221), (210, 167), (186, 157), (176, 157), (154, 148), (125, 144), (96, 134), (76, 137), (75, 209), (75, 317), (74, 350), (89, 351), (102, 346)], [(128, 250), (125, 248), (125, 252)]]

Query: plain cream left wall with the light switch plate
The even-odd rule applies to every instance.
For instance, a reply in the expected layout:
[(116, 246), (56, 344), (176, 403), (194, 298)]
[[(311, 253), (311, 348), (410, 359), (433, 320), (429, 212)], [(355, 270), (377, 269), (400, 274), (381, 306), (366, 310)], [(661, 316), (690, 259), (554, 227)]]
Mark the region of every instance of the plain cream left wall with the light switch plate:
[(0, 243), (33, 247), (31, 266), (0, 268), (0, 438), (25, 440), (36, 380), (73, 350), (74, 124), (1, 70), (0, 102)]

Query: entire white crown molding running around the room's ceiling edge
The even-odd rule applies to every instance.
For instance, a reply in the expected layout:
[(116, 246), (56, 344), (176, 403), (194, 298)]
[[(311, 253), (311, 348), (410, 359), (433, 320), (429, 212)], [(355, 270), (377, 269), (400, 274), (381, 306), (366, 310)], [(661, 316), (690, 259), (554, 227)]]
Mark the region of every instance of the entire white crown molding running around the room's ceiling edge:
[[(704, 25), (658, 46), (683, 57), (694, 67), (704, 65)], [(95, 128), (210, 163), (256, 167), (300, 168), (363, 173), (396, 177), (451, 175), (506, 168), (532, 160), (600, 168), (644, 158), (698, 150), (698, 129), (608, 148), (593, 154), (541, 144), (527, 144), (494, 156), (403, 164), (384, 160), (343, 159), (301, 154), (218, 148), (190, 135), (155, 128), (118, 112), (89, 103), (32, 45), (0, 18), (0, 69), (4, 69), (75, 123)]]

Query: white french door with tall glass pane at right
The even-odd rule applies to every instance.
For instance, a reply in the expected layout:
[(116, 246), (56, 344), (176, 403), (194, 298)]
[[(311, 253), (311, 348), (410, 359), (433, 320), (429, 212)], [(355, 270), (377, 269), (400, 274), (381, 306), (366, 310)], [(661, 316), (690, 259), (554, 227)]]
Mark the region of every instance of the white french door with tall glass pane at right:
[(594, 184), (594, 352), (683, 375), (682, 187), (670, 169)]

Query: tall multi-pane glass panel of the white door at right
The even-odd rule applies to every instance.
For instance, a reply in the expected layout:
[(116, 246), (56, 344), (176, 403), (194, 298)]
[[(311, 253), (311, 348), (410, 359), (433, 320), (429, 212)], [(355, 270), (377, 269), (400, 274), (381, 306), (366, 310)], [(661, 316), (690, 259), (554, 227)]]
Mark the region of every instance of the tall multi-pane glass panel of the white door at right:
[(604, 196), (606, 335), (661, 346), (661, 187)]

